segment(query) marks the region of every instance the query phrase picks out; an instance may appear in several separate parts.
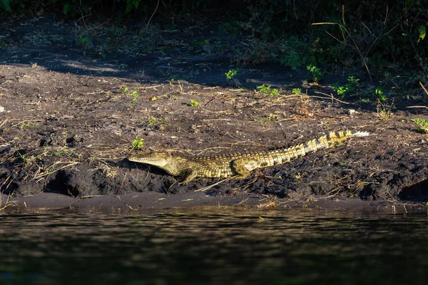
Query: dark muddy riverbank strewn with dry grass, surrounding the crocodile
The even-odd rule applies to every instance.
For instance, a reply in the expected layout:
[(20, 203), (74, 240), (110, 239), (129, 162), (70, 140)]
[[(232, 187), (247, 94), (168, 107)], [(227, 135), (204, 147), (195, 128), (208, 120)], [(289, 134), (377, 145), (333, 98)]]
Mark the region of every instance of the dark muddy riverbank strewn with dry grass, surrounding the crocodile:
[[(406, 90), (394, 93), (392, 112), (387, 113), (388, 106), (373, 100), (362, 104), (358, 94), (342, 100), (330, 95), (330, 85), (345, 83), (347, 76), (368, 80), (361, 71), (336, 70), (318, 85), (305, 81), (309, 76), (304, 70), (265, 65), (239, 68), (235, 78), (226, 80), (225, 73), (236, 67), (225, 45), (219, 48), (215, 29), (195, 26), (159, 33), (151, 53), (104, 54), (76, 43), (74, 23), (46, 16), (1, 24), (4, 195), (23, 203), (22, 197), (52, 193), (56, 206), (61, 199), (85, 204), (89, 199), (76, 197), (93, 195), (136, 195), (148, 199), (146, 206), (160, 197), (179, 197), (164, 207), (185, 206), (180, 203), (184, 199), (195, 199), (189, 200), (192, 206), (238, 204), (248, 197), (258, 200), (250, 205), (317, 197), (350, 204), (349, 198), (392, 204), (428, 199), (427, 136), (411, 122), (426, 118), (427, 110), (408, 108), (423, 102), (409, 98)], [(207, 35), (212, 46), (194, 43)], [(280, 95), (260, 92), (256, 87), (262, 84), (277, 88)], [(292, 88), (301, 88), (302, 94), (292, 95)], [(191, 100), (198, 106), (192, 107)], [(144, 139), (143, 150), (193, 156), (290, 146), (345, 129), (372, 135), (203, 193), (194, 191), (217, 180), (178, 185), (161, 170), (126, 160), (137, 137)], [(226, 198), (228, 202), (222, 200)], [(46, 207), (50, 203), (46, 200)], [(109, 203), (116, 207), (113, 198)]]

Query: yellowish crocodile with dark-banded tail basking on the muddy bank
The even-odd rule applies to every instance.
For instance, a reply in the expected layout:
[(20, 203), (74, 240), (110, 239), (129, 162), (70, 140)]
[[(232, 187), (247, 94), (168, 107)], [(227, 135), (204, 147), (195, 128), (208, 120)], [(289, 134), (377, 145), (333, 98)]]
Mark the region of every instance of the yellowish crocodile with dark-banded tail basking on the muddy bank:
[(154, 165), (165, 170), (169, 175), (184, 177), (181, 184), (195, 180), (196, 177), (245, 178), (256, 168), (280, 165), (285, 162), (307, 155), (310, 152), (333, 147), (351, 137), (364, 137), (370, 135), (367, 132), (355, 132), (350, 130), (331, 132), (315, 140), (272, 150), (248, 153), (229, 153), (225, 155), (213, 155), (206, 157), (183, 157), (170, 155), (166, 152), (151, 152), (131, 155), (128, 160), (141, 162), (146, 165)]

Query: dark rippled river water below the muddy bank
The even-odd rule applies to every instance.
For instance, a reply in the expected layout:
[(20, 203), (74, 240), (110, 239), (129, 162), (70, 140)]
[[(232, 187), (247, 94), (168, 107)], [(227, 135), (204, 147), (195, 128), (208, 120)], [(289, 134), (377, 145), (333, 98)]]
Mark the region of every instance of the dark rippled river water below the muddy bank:
[(5, 214), (0, 284), (427, 284), (427, 239), (427, 215)]

